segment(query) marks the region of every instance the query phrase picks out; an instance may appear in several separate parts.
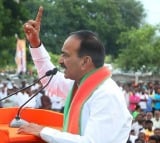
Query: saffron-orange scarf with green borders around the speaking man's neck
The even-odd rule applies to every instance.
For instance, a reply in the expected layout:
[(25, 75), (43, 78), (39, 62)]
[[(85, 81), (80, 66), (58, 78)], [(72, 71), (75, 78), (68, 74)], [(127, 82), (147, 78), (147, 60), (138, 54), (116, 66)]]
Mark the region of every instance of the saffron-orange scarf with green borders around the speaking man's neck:
[[(64, 125), (63, 130), (73, 133), (81, 134), (81, 111), (84, 103), (91, 97), (94, 90), (110, 77), (111, 72), (107, 67), (101, 67), (90, 74), (85, 75), (76, 90), (76, 84), (73, 85), (65, 104), (64, 109)], [(76, 90), (76, 92), (75, 92)], [(74, 95), (72, 101), (71, 98)]]

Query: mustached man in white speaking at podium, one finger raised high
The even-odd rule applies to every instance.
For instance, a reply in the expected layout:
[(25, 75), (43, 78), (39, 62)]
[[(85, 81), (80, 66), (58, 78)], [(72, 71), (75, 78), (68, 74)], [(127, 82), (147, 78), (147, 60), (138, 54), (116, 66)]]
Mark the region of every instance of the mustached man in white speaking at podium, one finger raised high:
[[(39, 76), (55, 67), (39, 37), (42, 13), (40, 7), (36, 19), (24, 24)], [(49, 143), (125, 143), (132, 117), (120, 88), (104, 66), (104, 58), (105, 49), (93, 32), (71, 33), (59, 59), (64, 73), (58, 72), (47, 88), (53, 95), (68, 94), (63, 131), (29, 123), (18, 133), (33, 134)]]

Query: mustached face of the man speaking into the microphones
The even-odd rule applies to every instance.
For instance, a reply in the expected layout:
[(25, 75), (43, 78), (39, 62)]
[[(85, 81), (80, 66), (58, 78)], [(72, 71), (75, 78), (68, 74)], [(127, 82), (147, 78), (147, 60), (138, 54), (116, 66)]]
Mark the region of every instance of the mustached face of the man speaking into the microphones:
[(79, 81), (83, 76), (82, 60), (78, 57), (78, 49), (80, 40), (75, 36), (70, 36), (64, 42), (62, 54), (59, 59), (59, 64), (64, 68), (65, 78)]

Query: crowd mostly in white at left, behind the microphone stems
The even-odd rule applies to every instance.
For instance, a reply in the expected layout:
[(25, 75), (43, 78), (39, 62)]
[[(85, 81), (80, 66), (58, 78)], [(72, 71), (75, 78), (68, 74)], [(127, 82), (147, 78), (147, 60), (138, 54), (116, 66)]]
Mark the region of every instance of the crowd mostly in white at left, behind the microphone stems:
[[(29, 86), (30, 84), (29, 82), (27, 82), (27, 80), (22, 80), (20, 84), (16, 84), (13, 81), (11, 82), (10, 80), (1, 81), (0, 100), (4, 100), (0, 102), (0, 107), (23, 106), (23, 104), (27, 102), (27, 100), (29, 100), (32, 96), (36, 94), (38, 90), (41, 89), (42, 84), (38, 82), (31, 87)], [(23, 90), (19, 91), (20, 89)], [(6, 98), (7, 96), (8, 98)], [(45, 89), (43, 89), (42, 91), (37, 92), (36, 96), (32, 98), (32, 100), (30, 100), (27, 104), (25, 104), (24, 107), (42, 108), (54, 110), (57, 112), (63, 112), (64, 100), (65, 99), (62, 97), (50, 95)]]

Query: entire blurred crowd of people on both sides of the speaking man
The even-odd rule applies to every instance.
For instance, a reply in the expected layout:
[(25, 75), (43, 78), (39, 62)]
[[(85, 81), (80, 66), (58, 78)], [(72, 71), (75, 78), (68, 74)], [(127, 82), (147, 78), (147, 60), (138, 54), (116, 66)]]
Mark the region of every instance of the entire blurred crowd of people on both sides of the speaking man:
[[(27, 86), (29, 86), (27, 80), (23, 80), (20, 85), (6, 80), (1, 81), (0, 99)], [(20, 107), (41, 86), (40, 82), (36, 83), (30, 88), (6, 98), (0, 102), (0, 107)], [(119, 86), (124, 93), (128, 110), (133, 116), (132, 129), (127, 143), (150, 143), (150, 140), (160, 143), (160, 83), (158, 81), (138, 84), (130, 82), (119, 84)], [(65, 98), (49, 95), (47, 91), (42, 90), (24, 107), (42, 108), (63, 113), (64, 102)]]

